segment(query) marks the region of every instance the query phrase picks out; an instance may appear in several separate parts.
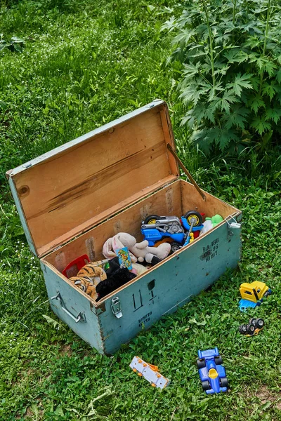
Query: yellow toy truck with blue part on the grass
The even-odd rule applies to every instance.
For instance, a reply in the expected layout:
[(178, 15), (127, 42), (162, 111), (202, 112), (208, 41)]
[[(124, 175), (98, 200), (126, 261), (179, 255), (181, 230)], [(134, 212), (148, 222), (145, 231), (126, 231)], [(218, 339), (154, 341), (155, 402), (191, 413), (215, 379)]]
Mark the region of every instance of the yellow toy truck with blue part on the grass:
[(272, 290), (266, 286), (266, 283), (254, 281), (251, 283), (241, 283), (240, 294), (242, 300), (239, 302), (239, 308), (243, 312), (248, 307), (255, 308), (261, 305), (263, 297), (267, 297), (272, 293)]

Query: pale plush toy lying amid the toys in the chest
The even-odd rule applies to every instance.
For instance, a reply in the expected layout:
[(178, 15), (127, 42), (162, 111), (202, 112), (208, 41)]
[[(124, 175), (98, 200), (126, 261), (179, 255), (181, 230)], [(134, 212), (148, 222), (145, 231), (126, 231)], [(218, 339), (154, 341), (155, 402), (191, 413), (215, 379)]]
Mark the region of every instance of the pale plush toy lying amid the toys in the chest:
[(148, 253), (156, 256), (160, 260), (169, 255), (171, 245), (169, 243), (162, 243), (158, 247), (149, 247), (148, 241), (144, 240), (137, 243), (135, 237), (126, 232), (119, 232), (119, 234), (105, 241), (103, 245), (103, 255), (105, 258), (115, 258), (115, 250), (117, 248), (128, 247), (132, 262), (144, 262), (145, 256)]

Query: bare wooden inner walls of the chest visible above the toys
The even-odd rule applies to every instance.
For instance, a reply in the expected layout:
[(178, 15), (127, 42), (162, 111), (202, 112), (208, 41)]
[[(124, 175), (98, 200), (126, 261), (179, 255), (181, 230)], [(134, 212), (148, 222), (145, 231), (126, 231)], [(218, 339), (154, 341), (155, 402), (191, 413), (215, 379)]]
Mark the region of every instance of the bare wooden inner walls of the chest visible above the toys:
[[(209, 217), (218, 213), (223, 218), (227, 218), (240, 213), (233, 206), (211, 194), (206, 192), (205, 194), (206, 201), (189, 182), (177, 180), (48, 254), (44, 261), (62, 272), (79, 255), (87, 254), (91, 261), (103, 259), (103, 243), (118, 232), (129, 232), (136, 237), (137, 241), (142, 241), (141, 222), (151, 214), (181, 217), (188, 210), (197, 210)], [(192, 247), (192, 244), (188, 247)], [(66, 279), (63, 275), (61, 276)]]

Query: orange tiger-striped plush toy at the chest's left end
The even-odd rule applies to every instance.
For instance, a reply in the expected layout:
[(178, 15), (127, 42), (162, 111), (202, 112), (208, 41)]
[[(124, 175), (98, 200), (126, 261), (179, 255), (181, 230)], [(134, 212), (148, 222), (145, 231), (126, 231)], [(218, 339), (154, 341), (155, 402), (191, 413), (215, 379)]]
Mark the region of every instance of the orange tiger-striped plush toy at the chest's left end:
[(98, 262), (88, 263), (79, 270), (77, 276), (72, 276), (72, 278), (69, 279), (74, 286), (90, 295), (95, 301), (98, 299), (96, 286), (101, 281), (107, 279), (105, 271), (102, 267), (97, 266), (97, 263)]

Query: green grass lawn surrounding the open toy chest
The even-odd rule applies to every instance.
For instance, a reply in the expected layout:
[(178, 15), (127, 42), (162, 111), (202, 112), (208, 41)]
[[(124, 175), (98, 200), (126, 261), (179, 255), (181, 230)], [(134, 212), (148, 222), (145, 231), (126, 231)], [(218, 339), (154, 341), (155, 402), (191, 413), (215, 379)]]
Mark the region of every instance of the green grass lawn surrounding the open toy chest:
[[(190, 148), (173, 88), (180, 67), (166, 67), (170, 38), (160, 31), (174, 3), (48, 0), (1, 9), (0, 32), (26, 46), (0, 53), (0, 420), (281, 420), (280, 155), (207, 159)], [(103, 357), (51, 312), (4, 173), (154, 98), (169, 103), (178, 152), (200, 185), (243, 211), (242, 262)], [(243, 314), (240, 283), (255, 279), (273, 295)], [(256, 314), (266, 327), (242, 337), (238, 326)], [(214, 346), (230, 392), (206, 396), (195, 361), (197, 349)], [(158, 365), (171, 385), (159, 392), (136, 376), (134, 355)]]

